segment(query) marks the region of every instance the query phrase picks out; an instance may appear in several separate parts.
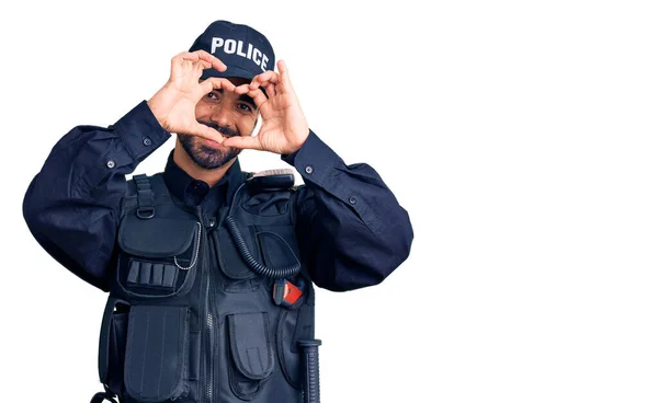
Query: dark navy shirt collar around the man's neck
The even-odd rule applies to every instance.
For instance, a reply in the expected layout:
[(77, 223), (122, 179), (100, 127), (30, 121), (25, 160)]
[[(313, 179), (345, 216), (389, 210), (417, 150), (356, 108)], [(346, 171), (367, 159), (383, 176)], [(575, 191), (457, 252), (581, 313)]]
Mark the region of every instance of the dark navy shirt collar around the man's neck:
[(173, 150), (167, 159), (163, 179), (172, 196), (188, 206), (201, 205), (208, 214), (215, 214), (226, 205), (227, 198), (231, 199), (236, 188), (243, 182), (239, 159), (234, 161), (215, 186), (209, 187), (204, 181), (190, 176), (173, 161)]

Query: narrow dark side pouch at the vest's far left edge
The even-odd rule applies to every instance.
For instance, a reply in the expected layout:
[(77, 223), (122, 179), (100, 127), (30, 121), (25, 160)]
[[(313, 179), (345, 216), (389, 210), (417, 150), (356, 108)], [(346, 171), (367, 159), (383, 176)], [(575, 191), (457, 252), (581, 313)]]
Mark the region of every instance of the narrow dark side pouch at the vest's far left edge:
[(114, 394), (122, 391), (129, 309), (125, 301), (109, 298), (101, 324), (99, 378)]

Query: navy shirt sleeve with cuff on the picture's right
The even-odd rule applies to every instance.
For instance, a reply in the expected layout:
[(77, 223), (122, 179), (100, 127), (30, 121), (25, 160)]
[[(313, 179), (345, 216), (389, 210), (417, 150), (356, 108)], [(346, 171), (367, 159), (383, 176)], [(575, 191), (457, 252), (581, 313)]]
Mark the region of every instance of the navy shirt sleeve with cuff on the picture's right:
[(372, 166), (345, 165), (313, 130), (299, 150), (281, 159), (304, 180), (295, 194), (295, 230), (318, 287), (345, 291), (379, 284), (409, 256), (409, 215)]

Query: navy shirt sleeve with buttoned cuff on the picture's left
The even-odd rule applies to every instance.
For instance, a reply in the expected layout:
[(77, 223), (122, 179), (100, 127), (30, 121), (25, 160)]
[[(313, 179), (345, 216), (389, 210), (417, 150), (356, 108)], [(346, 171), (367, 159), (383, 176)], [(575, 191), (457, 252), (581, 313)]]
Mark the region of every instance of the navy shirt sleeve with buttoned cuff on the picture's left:
[(107, 128), (72, 128), (25, 193), (23, 218), (34, 239), (82, 280), (109, 291), (125, 175), (169, 137), (146, 101)]

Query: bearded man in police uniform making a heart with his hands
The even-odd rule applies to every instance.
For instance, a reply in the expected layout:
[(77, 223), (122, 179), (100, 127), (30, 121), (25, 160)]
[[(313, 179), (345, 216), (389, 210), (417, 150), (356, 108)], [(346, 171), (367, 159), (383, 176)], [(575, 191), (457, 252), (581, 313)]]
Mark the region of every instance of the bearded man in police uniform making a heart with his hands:
[[(407, 211), (309, 129), (274, 65), (260, 32), (215, 21), (152, 97), (107, 128), (75, 127), (30, 184), (36, 241), (110, 292), (94, 399), (319, 401), (310, 283), (372, 286), (407, 258)], [(171, 133), (164, 171), (126, 181)], [(305, 184), (242, 172), (246, 148), (281, 154)]]

